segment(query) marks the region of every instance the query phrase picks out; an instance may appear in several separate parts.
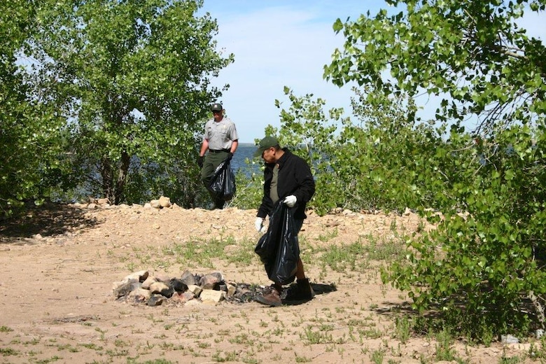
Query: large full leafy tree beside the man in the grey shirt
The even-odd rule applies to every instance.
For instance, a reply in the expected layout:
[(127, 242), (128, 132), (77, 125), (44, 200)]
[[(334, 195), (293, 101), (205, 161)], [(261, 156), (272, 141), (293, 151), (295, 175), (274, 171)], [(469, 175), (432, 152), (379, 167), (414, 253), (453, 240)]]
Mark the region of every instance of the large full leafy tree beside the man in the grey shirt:
[(198, 200), (197, 134), (221, 95), (210, 80), (233, 60), (216, 50), (216, 21), (195, 15), (201, 6), (41, 2), (34, 92), (67, 120), (72, 176), (86, 190), (113, 204), (141, 202), (147, 190), (172, 191), (185, 206)]

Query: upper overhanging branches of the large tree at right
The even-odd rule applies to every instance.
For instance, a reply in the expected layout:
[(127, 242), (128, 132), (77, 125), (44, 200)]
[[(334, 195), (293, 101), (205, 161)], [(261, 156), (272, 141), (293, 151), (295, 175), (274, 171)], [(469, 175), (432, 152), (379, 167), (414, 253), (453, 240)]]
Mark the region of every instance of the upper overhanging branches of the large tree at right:
[(544, 123), (546, 50), (518, 20), (545, 1), (386, 1), (402, 8), (334, 24), (346, 39), (325, 66), (336, 85), (355, 81), (377, 93), (440, 97), (435, 118), (475, 118), (476, 132)]

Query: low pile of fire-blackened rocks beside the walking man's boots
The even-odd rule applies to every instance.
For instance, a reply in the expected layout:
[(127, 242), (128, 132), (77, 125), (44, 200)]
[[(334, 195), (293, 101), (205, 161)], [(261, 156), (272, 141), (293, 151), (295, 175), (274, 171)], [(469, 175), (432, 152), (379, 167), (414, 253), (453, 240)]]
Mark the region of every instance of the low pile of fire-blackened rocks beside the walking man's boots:
[(180, 278), (150, 275), (142, 270), (113, 283), (116, 300), (160, 306), (171, 302), (176, 304), (216, 304), (223, 300), (250, 302), (263, 288), (247, 284), (228, 283), (221, 272), (192, 274), (183, 272)]

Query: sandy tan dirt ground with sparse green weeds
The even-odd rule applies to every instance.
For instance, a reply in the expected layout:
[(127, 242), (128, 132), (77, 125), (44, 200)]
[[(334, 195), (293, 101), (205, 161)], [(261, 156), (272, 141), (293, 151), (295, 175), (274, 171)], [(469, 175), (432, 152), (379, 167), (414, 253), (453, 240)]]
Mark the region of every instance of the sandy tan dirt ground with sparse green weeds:
[[(220, 271), (226, 281), (269, 285), (258, 257), (181, 267), (169, 246), (230, 239), (225, 251), (252, 249), (255, 210), (85, 209), (55, 205), (0, 223), (1, 363), (531, 363), (531, 343), (447, 349), (436, 337), (396, 335), (409, 311), (404, 293), (381, 284), (379, 265), (365, 272), (305, 265), (316, 285), (335, 286), (304, 304), (166, 304), (116, 301), (113, 282), (132, 272), (180, 276)], [(414, 214), (310, 211), (302, 255), (318, 247), (389, 241), (411, 235)], [(425, 225), (425, 228), (426, 225)], [(152, 258), (142, 257), (150, 252)], [(196, 261), (197, 260), (197, 257)], [(304, 260), (305, 261), (305, 260)], [(442, 351), (443, 350), (443, 351)], [(512, 361), (507, 361), (511, 358)]]

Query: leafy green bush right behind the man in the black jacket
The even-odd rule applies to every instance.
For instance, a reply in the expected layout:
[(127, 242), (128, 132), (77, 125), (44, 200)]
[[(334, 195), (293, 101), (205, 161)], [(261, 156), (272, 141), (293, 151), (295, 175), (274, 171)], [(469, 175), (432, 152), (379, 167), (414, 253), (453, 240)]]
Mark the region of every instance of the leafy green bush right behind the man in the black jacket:
[[(403, 211), (421, 202), (430, 204), (433, 196), (424, 179), (416, 180), (407, 165), (428, 163), (441, 142), (440, 132), (408, 118), (415, 112), (412, 104), (388, 97), (367, 104), (365, 94), (354, 91), (356, 122), (344, 117), (342, 109), (326, 113), (323, 99), (312, 94), (297, 97), (286, 87), (290, 104), (281, 109), (281, 128), (266, 130), (266, 134), (279, 134), (283, 146), (311, 165), (317, 188), (310, 206), (325, 214), (337, 207)], [(282, 106), (278, 100), (276, 105)], [(402, 183), (412, 188), (400, 189)]]

